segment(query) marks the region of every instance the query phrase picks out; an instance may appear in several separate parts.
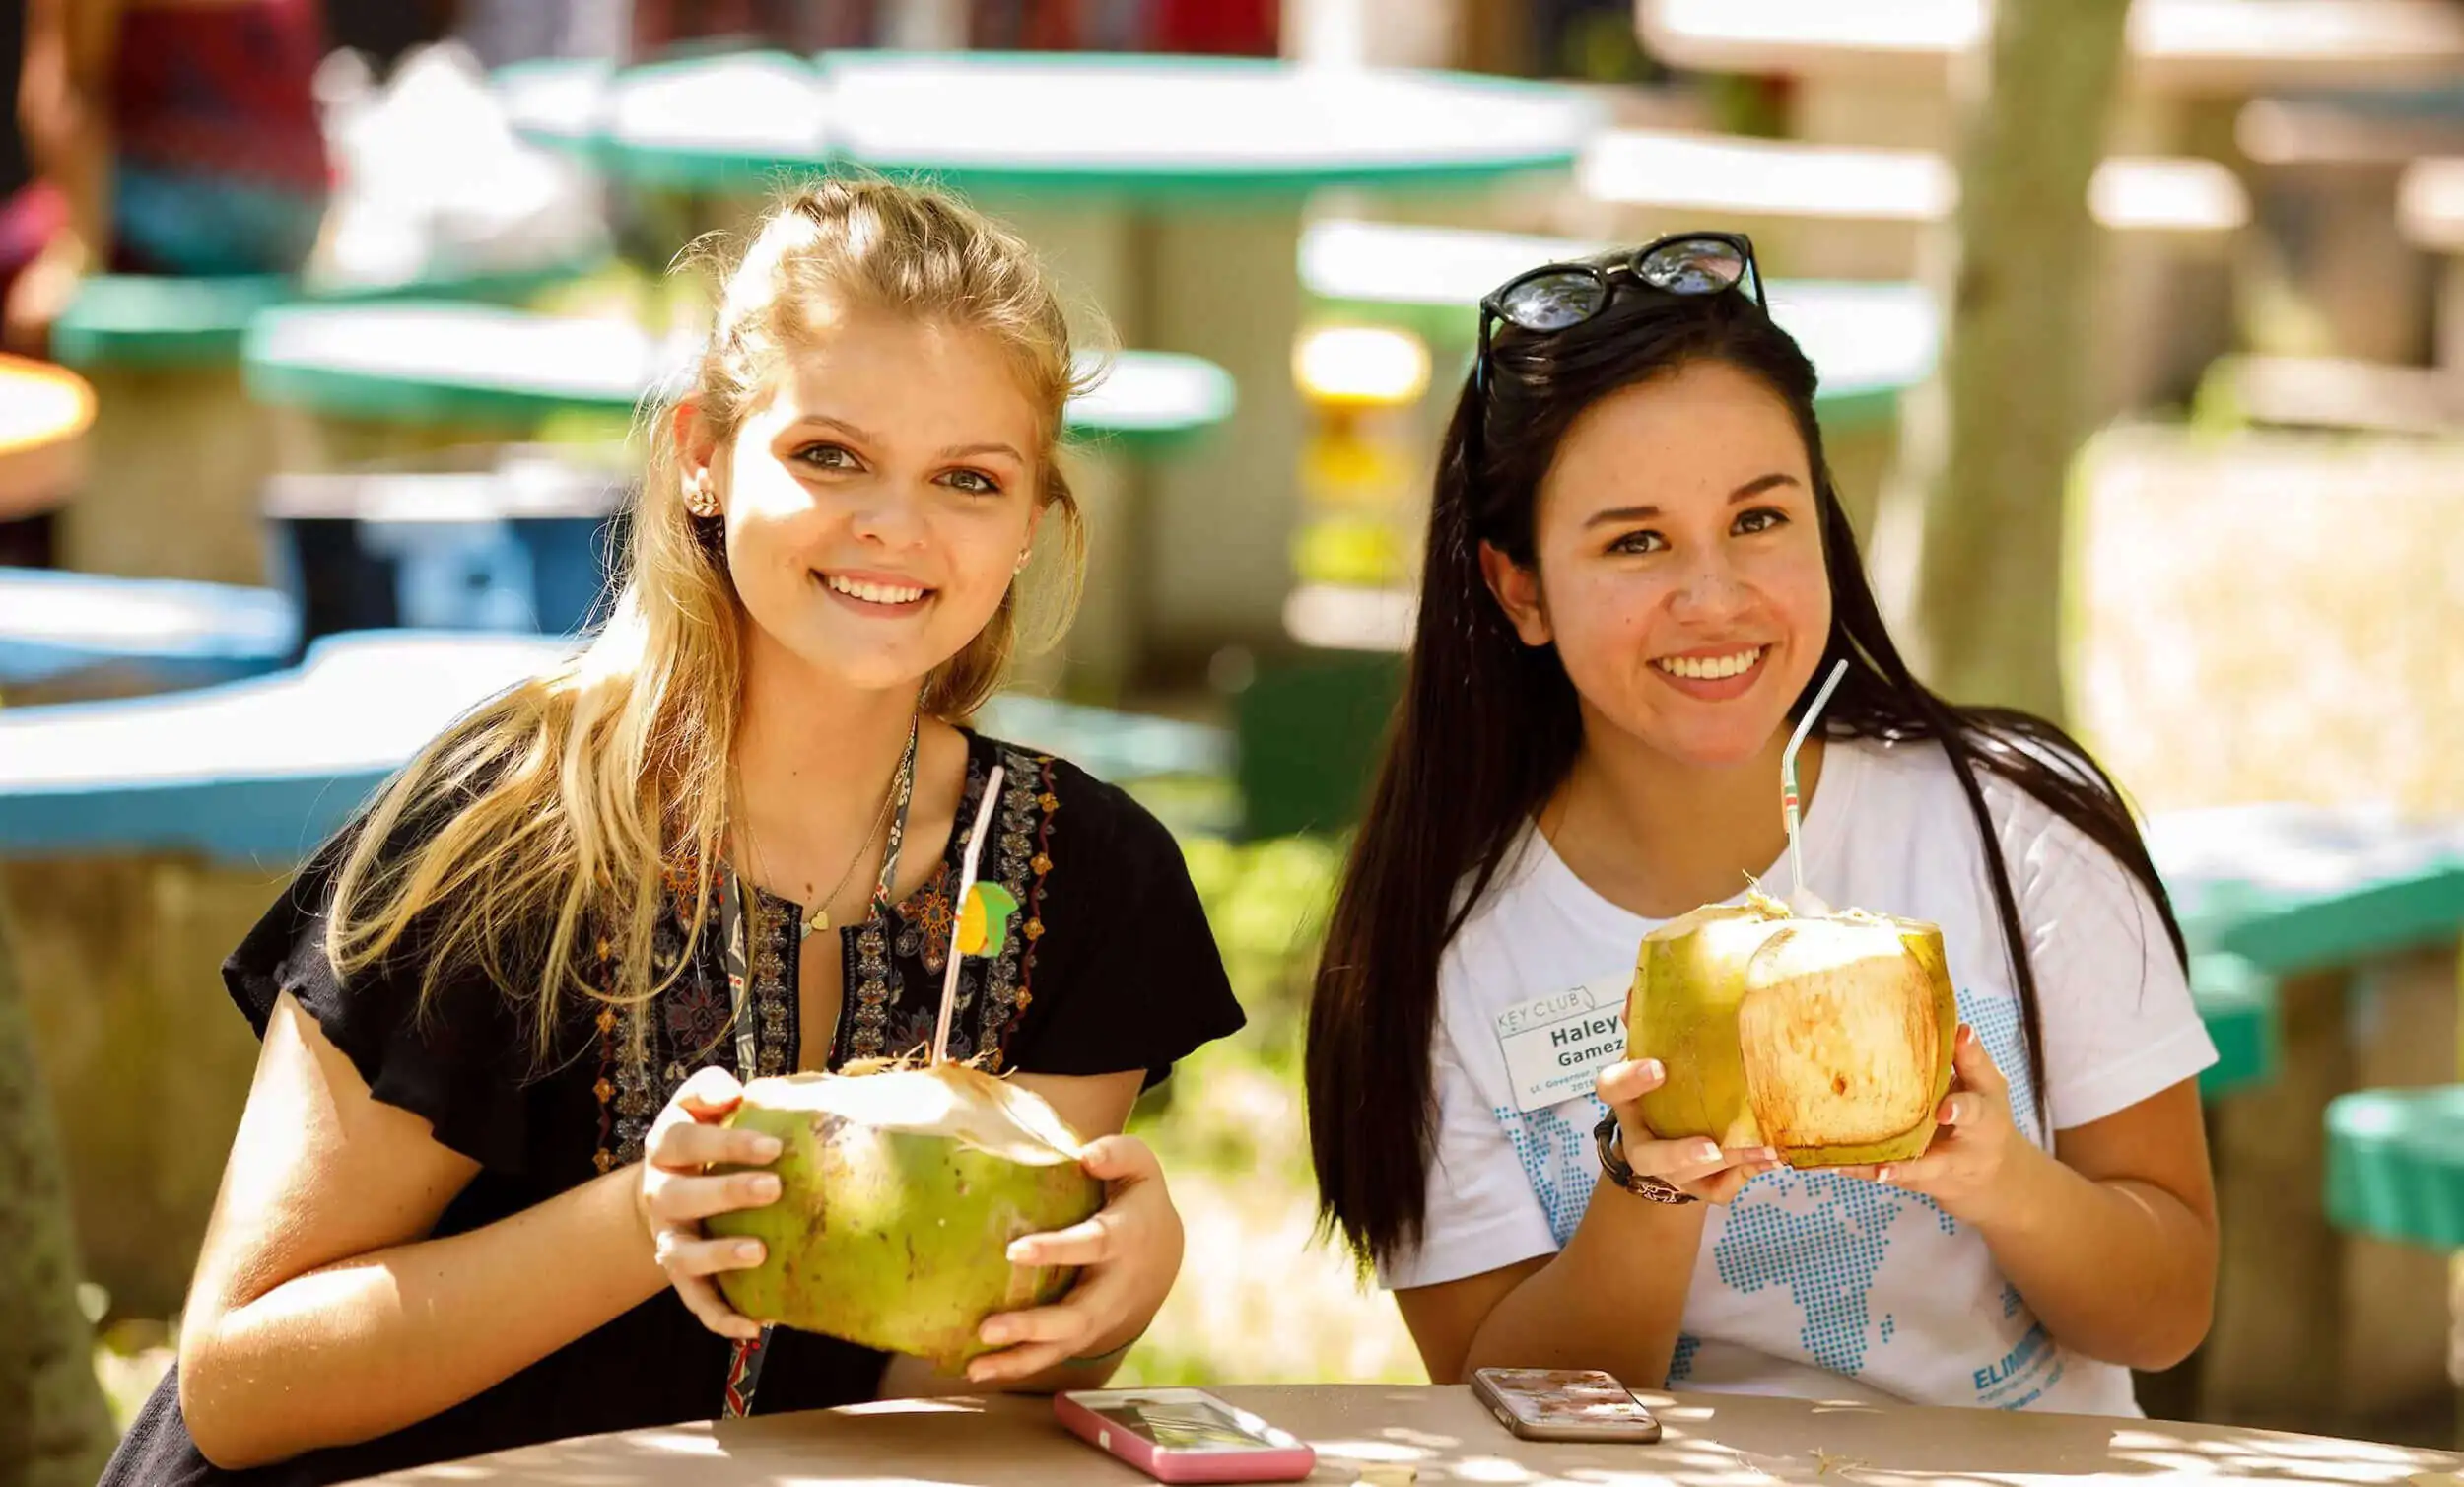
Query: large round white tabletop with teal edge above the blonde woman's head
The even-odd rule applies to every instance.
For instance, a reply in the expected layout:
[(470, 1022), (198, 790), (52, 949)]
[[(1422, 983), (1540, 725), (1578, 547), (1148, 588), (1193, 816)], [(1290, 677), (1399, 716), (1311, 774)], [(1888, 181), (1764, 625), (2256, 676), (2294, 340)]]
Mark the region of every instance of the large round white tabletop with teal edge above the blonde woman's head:
[(1565, 170), (1602, 123), (1550, 84), (1234, 57), (749, 52), (498, 86), (530, 138), (710, 187), (830, 162), (1037, 194), (1409, 187)]

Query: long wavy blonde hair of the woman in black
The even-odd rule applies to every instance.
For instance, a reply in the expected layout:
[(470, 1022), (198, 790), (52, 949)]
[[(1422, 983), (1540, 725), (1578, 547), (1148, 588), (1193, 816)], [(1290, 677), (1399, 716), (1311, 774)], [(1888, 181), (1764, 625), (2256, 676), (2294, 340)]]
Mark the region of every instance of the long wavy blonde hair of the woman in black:
[[(530, 1000), (540, 1056), (554, 1049), (569, 992), (638, 1004), (673, 980), (683, 960), (653, 965), (663, 901), (690, 889), (697, 928), (710, 906), (705, 864), (727, 837), (752, 620), (719, 522), (685, 510), (680, 399), (695, 401), (705, 436), (732, 438), (825, 305), (988, 332), (1045, 419), (1037, 500), (1062, 527), (1062, 561), (1030, 564), (1030, 576), (1060, 566), (1035, 640), (1067, 628), (1084, 566), (1057, 458), (1067, 401), (1084, 384), (1060, 295), (1020, 239), (936, 190), (828, 180), (776, 202), (732, 266), (702, 249), (692, 259), (719, 271), (717, 320), (692, 387), (648, 416), (653, 453), (606, 623), (567, 665), (478, 707), (411, 758), (357, 822), (333, 886), (328, 955), (345, 977), (419, 923), (421, 1007), (448, 977), (483, 972)], [(924, 711), (963, 721), (998, 689), (1020, 645), (1025, 583), (924, 679)], [(692, 867), (690, 879), (670, 884), (678, 864)]]

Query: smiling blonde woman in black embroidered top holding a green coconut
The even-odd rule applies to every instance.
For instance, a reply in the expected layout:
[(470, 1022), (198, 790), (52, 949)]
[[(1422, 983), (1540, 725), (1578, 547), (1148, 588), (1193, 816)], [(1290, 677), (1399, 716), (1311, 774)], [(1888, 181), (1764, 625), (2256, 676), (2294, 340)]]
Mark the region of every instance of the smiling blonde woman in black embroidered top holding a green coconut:
[[(227, 963), (264, 1054), (180, 1364), (106, 1482), (1109, 1376), (1180, 1265), (1121, 1125), (1242, 1012), (1163, 827), (958, 724), (1030, 556), (1082, 551), (1069, 394), (1035, 261), (956, 202), (830, 182), (766, 219), (660, 421), (604, 633), (436, 739)], [(764, 1339), (712, 1285), (759, 1248), (700, 1219), (776, 1179), (702, 1169), (774, 1152), (717, 1120), (742, 1068), (931, 1039), (993, 766), (981, 874), (1020, 913), (963, 963), (951, 1051), (1099, 1135), (1104, 1214), (1013, 1251), (1082, 1278), (993, 1317), (966, 1379)]]

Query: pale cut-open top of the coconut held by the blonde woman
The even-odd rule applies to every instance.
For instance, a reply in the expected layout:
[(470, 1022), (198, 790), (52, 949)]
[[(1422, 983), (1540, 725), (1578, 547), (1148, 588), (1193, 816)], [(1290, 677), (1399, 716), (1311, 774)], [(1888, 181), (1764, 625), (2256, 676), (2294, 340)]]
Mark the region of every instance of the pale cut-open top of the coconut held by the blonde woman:
[(761, 1086), (761, 1103), (774, 1110), (811, 1110), (872, 1130), (936, 1135), (1030, 1167), (1077, 1162), (1087, 1150), (1032, 1091), (966, 1064), (788, 1073)]

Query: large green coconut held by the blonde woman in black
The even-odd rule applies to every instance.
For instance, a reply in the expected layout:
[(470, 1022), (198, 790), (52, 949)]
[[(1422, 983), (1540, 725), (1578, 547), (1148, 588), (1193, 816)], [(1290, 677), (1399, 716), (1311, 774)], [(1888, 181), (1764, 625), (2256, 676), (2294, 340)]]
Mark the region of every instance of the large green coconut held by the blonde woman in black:
[(929, 1359), (991, 1352), (993, 1312), (1057, 1300), (1072, 1268), (1013, 1265), (1008, 1246), (1104, 1206), (1082, 1142), (1035, 1093), (963, 1064), (756, 1078), (727, 1118), (779, 1137), (779, 1201), (705, 1224), (766, 1246), (717, 1275), (756, 1322)]

